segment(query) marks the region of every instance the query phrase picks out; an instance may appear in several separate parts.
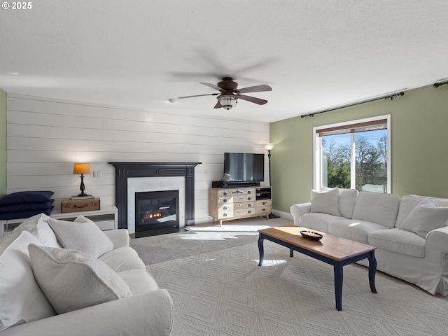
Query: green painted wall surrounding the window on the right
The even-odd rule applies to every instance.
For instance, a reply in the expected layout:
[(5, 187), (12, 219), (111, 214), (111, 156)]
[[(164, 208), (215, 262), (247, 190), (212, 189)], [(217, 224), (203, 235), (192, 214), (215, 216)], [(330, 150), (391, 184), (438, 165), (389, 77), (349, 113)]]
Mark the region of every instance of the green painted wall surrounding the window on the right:
[(391, 192), (448, 198), (448, 87), (405, 91), (403, 97), (290, 118), (270, 125), (273, 209), (309, 202), (313, 127), (391, 115)]

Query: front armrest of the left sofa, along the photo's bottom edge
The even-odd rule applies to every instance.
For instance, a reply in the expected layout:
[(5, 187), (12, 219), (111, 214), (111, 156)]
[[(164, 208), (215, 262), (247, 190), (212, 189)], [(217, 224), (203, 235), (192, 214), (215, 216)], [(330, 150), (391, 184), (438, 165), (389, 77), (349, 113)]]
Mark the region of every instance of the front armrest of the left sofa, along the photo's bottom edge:
[(165, 336), (172, 330), (174, 307), (165, 289), (97, 304), (66, 314), (15, 325), (1, 336)]

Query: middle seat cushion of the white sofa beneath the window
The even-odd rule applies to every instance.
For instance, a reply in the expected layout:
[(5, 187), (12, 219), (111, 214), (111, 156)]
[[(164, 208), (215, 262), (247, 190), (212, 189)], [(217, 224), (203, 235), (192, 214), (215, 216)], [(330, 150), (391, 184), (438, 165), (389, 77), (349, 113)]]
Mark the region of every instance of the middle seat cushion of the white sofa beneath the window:
[(337, 237), (359, 241), (368, 244), (370, 232), (387, 230), (381, 224), (358, 219), (341, 219), (328, 224), (328, 233)]

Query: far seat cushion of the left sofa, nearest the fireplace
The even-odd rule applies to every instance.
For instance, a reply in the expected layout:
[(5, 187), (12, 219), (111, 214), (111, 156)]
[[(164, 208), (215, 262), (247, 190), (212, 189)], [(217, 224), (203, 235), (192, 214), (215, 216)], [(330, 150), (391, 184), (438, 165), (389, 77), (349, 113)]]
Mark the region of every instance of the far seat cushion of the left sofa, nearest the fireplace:
[(127, 269), (146, 269), (134, 248), (123, 246), (104, 253), (99, 260), (111, 267), (115, 272), (123, 272)]

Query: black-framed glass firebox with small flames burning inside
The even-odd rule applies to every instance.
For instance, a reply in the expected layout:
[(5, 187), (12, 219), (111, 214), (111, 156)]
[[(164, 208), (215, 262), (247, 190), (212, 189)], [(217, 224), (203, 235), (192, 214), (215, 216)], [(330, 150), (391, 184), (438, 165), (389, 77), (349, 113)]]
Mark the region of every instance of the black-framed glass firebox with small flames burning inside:
[(135, 231), (179, 227), (179, 190), (135, 193)]

